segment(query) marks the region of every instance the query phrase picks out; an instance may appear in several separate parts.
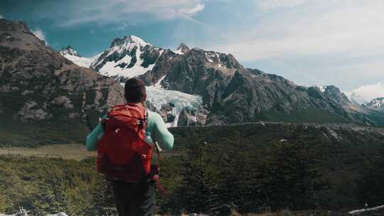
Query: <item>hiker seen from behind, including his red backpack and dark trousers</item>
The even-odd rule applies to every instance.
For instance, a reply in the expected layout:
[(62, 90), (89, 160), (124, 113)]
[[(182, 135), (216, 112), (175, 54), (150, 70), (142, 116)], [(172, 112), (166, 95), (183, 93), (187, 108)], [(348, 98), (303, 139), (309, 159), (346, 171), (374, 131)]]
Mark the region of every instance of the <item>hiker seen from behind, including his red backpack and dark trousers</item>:
[[(154, 215), (154, 188), (158, 175), (150, 174), (154, 169), (156, 170), (156, 167), (150, 164), (152, 149), (156, 148), (159, 153), (159, 149), (154, 144), (156, 141), (161, 148), (171, 150), (174, 145), (174, 136), (168, 131), (159, 114), (144, 108), (146, 91), (142, 80), (137, 78), (127, 80), (124, 93), (127, 104), (112, 108), (107, 117), (104, 117), (93, 129), (87, 136), (87, 150), (97, 150), (98, 171), (112, 179), (114, 200), (119, 216)], [(146, 144), (142, 144), (143, 140)], [(144, 146), (145, 149), (138, 151), (139, 153), (132, 153), (133, 150), (127, 151), (124, 147), (127, 144), (131, 145), (129, 148), (132, 149), (139, 149), (137, 146)], [(129, 163), (120, 164), (124, 168), (119, 167), (119, 169), (113, 164), (116, 161), (127, 161), (127, 159)], [(135, 164), (134, 168), (132, 164)]]

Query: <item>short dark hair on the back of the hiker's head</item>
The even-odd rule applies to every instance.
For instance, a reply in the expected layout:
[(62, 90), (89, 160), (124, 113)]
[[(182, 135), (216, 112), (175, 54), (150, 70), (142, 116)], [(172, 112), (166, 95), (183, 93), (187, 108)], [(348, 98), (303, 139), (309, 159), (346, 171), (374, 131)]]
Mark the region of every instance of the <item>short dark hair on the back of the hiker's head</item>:
[(131, 103), (143, 102), (146, 97), (145, 84), (137, 78), (130, 78), (125, 82), (124, 92), (125, 99)]

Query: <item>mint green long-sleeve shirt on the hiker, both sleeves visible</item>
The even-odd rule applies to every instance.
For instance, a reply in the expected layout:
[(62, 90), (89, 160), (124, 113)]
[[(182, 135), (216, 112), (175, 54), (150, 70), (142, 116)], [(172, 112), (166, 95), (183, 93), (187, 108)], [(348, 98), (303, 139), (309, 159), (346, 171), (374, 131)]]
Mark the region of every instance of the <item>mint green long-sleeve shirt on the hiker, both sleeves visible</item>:
[[(148, 111), (148, 124), (145, 128), (146, 136), (151, 136), (153, 141), (157, 141), (161, 148), (171, 150), (174, 147), (174, 136), (168, 131), (164, 120), (156, 112)], [(85, 143), (87, 151), (96, 151), (97, 141), (102, 139), (104, 131), (101, 123), (97, 124), (87, 136)]]

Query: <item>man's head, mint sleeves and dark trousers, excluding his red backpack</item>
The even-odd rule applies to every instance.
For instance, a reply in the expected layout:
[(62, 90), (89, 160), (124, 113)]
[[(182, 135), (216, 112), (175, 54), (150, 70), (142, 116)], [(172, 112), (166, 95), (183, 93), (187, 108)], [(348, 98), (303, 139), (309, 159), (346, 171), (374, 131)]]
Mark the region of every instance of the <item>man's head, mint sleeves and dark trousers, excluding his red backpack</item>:
[[(142, 80), (131, 78), (125, 82), (124, 97), (127, 105), (144, 106), (146, 100), (145, 85)], [(105, 135), (101, 122), (87, 136), (88, 151), (97, 150), (97, 143)], [(171, 150), (174, 145), (174, 136), (166, 128), (159, 114), (147, 110), (147, 124), (145, 126), (145, 139), (157, 141), (161, 148)], [(154, 215), (154, 180), (128, 182), (112, 180), (114, 200), (119, 216), (126, 215)]]

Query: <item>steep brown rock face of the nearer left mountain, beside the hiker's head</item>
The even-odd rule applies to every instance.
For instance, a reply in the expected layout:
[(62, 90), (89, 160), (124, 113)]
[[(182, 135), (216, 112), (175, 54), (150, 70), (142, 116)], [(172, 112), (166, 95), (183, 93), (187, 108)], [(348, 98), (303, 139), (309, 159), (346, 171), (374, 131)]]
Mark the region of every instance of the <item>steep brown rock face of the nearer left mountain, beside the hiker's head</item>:
[[(78, 55), (70, 48), (67, 53)], [(0, 119), (86, 125), (124, 102), (123, 94), (119, 82), (75, 65), (24, 23), (0, 19)]]

